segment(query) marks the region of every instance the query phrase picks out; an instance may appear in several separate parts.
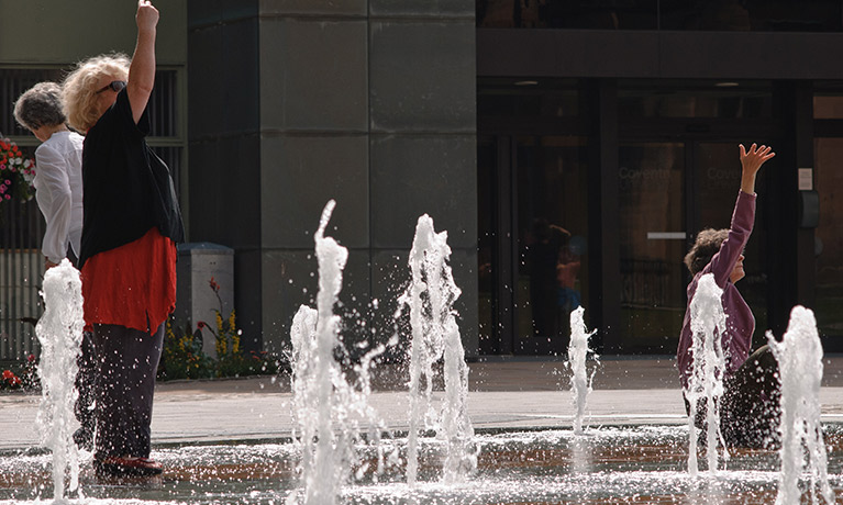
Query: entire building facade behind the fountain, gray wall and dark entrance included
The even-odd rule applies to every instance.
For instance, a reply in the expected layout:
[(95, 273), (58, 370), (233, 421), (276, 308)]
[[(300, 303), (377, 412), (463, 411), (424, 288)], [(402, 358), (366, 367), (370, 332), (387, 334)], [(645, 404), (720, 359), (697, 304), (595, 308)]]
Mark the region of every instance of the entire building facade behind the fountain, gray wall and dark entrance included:
[[(131, 52), (131, 2), (81, 3), (0, 0), (0, 131), (21, 145), (36, 142), (7, 119), (22, 91), (8, 82)], [(284, 350), (298, 306), (315, 305), (313, 233), (335, 200), (328, 234), (350, 250), (337, 307), (350, 344), (386, 343), (406, 324), (397, 300), (429, 214), (448, 233), (469, 356), (564, 354), (577, 305), (600, 352), (672, 354), (681, 259), (699, 229), (729, 226), (736, 146), (752, 142), (777, 153), (739, 285), (757, 344), (799, 303), (827, 350), (841, 348), (840, 1), (158, 8), (151, 144), (175, 165), (189, 239), (235, 251), (253, 349)]]

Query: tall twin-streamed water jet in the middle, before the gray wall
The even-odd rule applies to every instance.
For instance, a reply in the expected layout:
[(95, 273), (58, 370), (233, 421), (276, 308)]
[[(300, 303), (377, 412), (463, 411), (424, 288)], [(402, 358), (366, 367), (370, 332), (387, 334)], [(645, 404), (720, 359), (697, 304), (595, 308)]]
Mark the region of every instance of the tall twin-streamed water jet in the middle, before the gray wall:
[[(412, 340), (410, 347), (410, 429), (407, 436), (407, 483), (415, 485), (420, 423), (436, 426), (431, 414), (433, 366), (444, 356), (445, 399), (437, 433), (445, 439), (446, 457), (443, 482), (462, 481), (477, 468), (477, 446), (468, 418), (468, 367), (453, 310), (459, 296), (447, 260), (451, 247), (447, 232), (436, 234), (433, 220), (419, 217), (410, 251), (412, 282), (399, 299), (410, 307)], [(422, 378), (425, 381), (421, 390)], [(423, 409), (425, 412), (423, 412)]]

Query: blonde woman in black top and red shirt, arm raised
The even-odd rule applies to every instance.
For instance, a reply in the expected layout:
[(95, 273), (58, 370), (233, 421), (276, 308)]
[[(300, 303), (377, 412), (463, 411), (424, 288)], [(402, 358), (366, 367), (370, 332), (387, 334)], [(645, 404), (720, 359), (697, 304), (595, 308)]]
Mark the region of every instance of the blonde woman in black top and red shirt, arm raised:
[(153, 394), (184, 227), (169, 169), (145, 141), (158, 16), (140, 0), (131, 61), (96, 56), (64, 85), (67, 117), (86, 132), (79, 267), (97, 351), (99, 475), (162, 473), (149, 459)]

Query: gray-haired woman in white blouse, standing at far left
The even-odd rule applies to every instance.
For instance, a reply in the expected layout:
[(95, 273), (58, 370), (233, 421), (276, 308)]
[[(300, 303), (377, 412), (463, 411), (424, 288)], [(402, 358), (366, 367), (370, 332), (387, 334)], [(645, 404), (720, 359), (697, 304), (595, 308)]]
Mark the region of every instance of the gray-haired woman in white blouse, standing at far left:
[[(67, 258), (77, 265), (82, 235), (82, 142), (85, 137), (67, 127), (62, 106), (62, 87), (38, 82), (14, 103), (14, 119), (42, 144), (35, 149), (35, 201), (46, 229), (41, 246), (47, 269)], [(76, 418), (81, 427), (76, 444), (90, 450), (93, 437), (93, 349), (85, 333), (78, 359)]]

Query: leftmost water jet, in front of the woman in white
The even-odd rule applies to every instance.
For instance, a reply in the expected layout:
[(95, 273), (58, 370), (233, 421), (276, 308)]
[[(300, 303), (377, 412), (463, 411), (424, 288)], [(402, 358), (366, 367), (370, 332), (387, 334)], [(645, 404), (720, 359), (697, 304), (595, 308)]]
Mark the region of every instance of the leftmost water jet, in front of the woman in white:
[(68, 491), (79, 489), (79, 452), (74, 431), (79, 422), (74, 403), (79, 393), (75, 380), (76, 360), (82, 341), (82, 292), (79, 271), (67, 259), (44, 274), (44, 314), (35, 327), (41, 344), (41, 405), (36, 424), (41, 445), (53, 452), (54, 503), (64, 503), (65, 479)]

